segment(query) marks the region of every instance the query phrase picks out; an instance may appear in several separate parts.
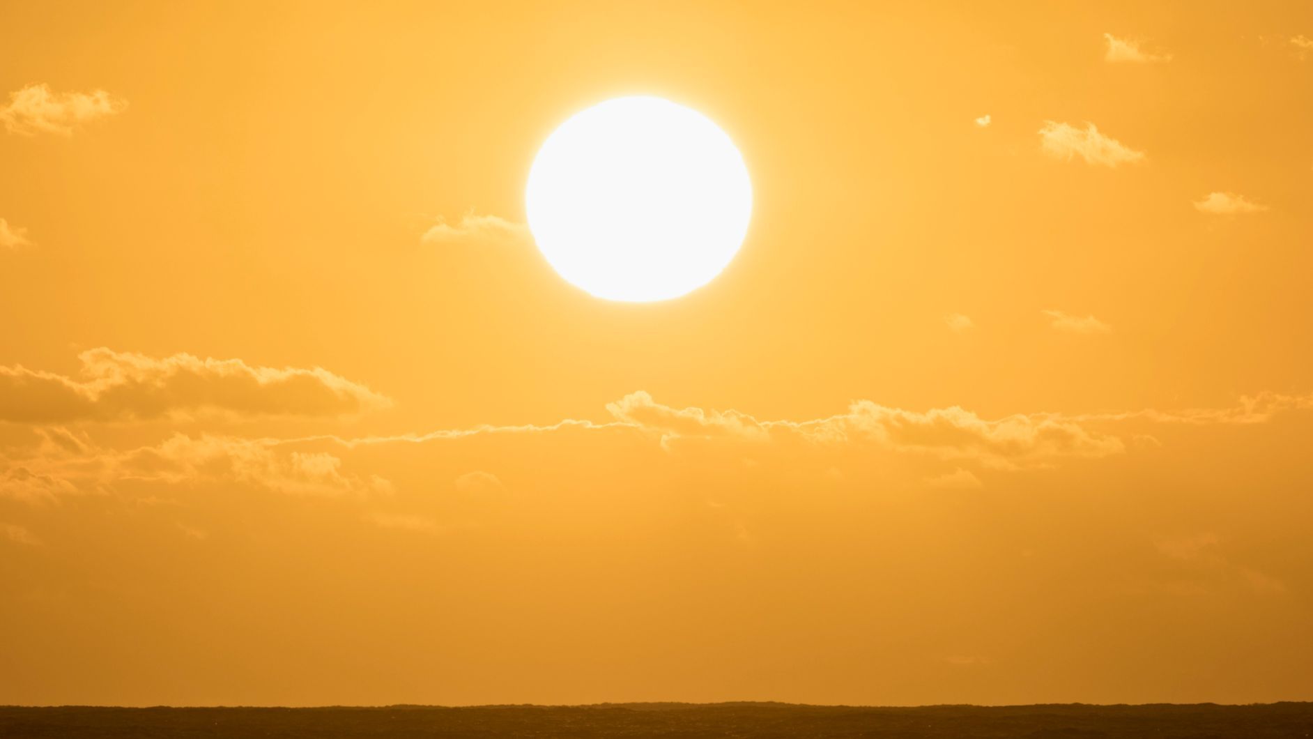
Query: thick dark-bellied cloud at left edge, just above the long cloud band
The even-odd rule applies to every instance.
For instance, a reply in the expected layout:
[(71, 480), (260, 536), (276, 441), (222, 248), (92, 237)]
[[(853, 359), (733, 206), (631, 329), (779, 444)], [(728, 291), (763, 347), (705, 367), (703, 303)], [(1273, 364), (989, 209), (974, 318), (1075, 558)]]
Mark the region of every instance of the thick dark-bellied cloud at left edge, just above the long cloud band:
[(81, 378), (0, 366), (0, 421), (74, 423), (236, 416), (344, 416), (391, 402), (328, 370), (251, 366), (242, 360), (89, 349)]

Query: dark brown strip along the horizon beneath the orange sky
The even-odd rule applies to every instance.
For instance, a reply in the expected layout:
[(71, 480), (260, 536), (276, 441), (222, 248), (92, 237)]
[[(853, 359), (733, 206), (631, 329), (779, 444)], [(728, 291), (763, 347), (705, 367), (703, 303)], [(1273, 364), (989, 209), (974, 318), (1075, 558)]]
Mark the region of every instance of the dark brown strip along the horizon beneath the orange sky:
[(0, 736), (1313, 736), (1313, 704), (855, 707), (788, 704), (0, 707)]

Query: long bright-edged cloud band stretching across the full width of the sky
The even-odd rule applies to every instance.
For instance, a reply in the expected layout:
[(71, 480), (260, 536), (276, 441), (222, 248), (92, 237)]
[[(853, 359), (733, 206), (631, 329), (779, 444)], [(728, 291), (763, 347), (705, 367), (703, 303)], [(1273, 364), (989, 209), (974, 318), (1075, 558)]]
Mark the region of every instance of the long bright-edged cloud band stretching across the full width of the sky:
[[(0, 499), (39, 504), (71, 495), (139, 492), (140, 486), (185, 490), (206, 484), (218, 484), (225, 490), (244, 487), (299, 496), (391, 497), (394, 486), (390, 479), (353, 471), (360, 458), (353, 462), (347, 452), (362, 446), (444, 442), (477, 436), (513, 434), (533, 438), (567, 433), (605, 433), (613, 440), (621, 438), (616, 434), (638, 433), (658, 438), (668, 453), (708, 444), (746, 445), (722, 449), (726, 452), (725, 459), (734, 466), (741, 466), (739, 462), (744, 459), (793, 458), (790, 454), (801, 454), (797, 459), (814, 459), (811, 454), (819, 453), (826, 462), (815, 466), (817, 474), (829, 474), (836, 479), (843, 475), (835, 474), (838, 467), (831, 454), (855, 454), (856, 457), (846, 457), (851, 462), (882, 450), (952, 462), (952, 473), (923, 478), (923, 483), (934, 488), (968, 490), (981, 487), (973, 466), (1011, 471), (1052, 469), (1064, 461), (1099, 459), (1125, 453), (1127, 442), (1108, 424), (1259, 424), (1283, 412), (1313, 411), (1313, 392), (1262, 392), (1242, 398), (1239, 404), (1229, 408), (1090, 415), (1039, 412), (1014, 413), (1001, 419), (982, 419), (956, 406), (907, 411), (871, 400), (856, 400), (834, 416), (760, 420), (739, 411), (676, 408), (658, 403), (642, 391), (632, 392), (607, 408), (614, 421), (566, 420), (553, 425), (474, 427), (364, 438), (242, 438), (176, 433), (158, 444), (130, 449), (101, 448), (84, 432), (43, 427), (33, 429), (34, 444), (0, 450)], [(1137, 433), (1129, 438), (1133, 442), (1140, 436), (1142, 434)], [(366, 457), (376, 458), (372, 454)], [(751, 466), (754, 465), (747, 467)], [(486, 494), (503, 490), (503, 484), (491, 473), (474, 470), (456, 476), (454, 488), (471, 496), (471, 500), (482, 500)], [(391, 524), (404, 528), (397, 521)]]

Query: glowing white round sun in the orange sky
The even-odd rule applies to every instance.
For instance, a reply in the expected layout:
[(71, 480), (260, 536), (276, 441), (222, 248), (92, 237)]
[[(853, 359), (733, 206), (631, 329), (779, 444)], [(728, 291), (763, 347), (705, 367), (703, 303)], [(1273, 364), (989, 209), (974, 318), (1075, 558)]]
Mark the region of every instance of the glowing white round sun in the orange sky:
[(618, 97), (548, 137), (525, 203), (538, 249), (567, 282), (611, 301), (664, 301), (710, 282), (738, 253), (752, 182), (734, 142), (701, 113)]

